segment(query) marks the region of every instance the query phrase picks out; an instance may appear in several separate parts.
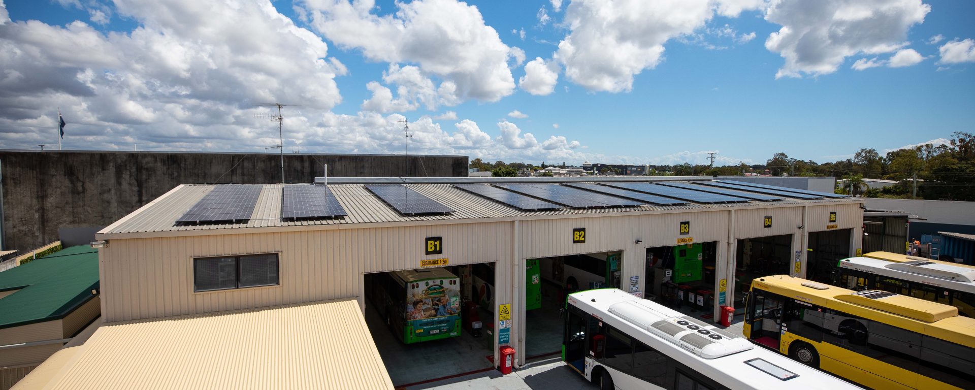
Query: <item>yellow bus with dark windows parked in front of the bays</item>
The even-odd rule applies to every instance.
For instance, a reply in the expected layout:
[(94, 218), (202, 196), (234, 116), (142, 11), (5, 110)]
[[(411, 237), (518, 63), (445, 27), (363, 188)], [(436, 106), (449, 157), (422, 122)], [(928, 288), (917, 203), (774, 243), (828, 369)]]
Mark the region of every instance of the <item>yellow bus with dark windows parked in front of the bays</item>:
[(875, 389), (975, 389), (975, 319), (955, 306), (766, 276), (752, 282), (744, 333)]

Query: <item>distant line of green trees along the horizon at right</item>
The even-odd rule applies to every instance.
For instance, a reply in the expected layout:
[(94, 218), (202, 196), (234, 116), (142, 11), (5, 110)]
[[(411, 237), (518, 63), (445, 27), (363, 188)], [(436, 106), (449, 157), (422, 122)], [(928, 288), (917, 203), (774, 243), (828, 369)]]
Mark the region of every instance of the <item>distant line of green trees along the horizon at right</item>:
[[(494, 164), (476, 158), (471, 168), (491, 172), (493, 176), (515, 176), (522, 169), (533, 171), (547, 167), (565, 168), (559, 165), (540, 166), (526, 163)], [(898, 149), (881, 156), (877, 149), (863, 148), (851, 159), (833, 163), (818, 164), (812, 160), (802, 161), (780, 152), (772, 155), (765, 164), (727, 165), (711, 167), (708, 165), (651, 165), (647, 176), (740, 176), (748, 173), (771, 176), (836, 176), (846, 179), (846, 185), (837, 190), (870, 198), (910, 199), (917, 191), (917, 199), (975, 201), (975, 137), (968, 133), (956, 132), (946, 145), (930, 143), (912, 148)], [(883, 187), (864, 188), (863, 179), (879, 178), (896, 180), (898, 183)], [(915, 189), (917, 178), (917, 189)]]

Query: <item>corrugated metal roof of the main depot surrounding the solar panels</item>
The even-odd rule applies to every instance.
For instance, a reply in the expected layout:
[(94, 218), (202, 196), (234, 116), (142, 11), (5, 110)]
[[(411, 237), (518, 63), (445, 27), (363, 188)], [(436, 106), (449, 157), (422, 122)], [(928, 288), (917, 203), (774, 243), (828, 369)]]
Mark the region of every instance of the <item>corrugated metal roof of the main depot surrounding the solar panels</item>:
[(409, 187), (431, 199), (440, 202), (455, 213), (448, 215), (415, 215), (404, 216), (398, 214), (377, 197), (372, 195), (363, 184), (329, 184), (335, 198), (342, 205), (348, 215), (341, 219), (316, 220), (282, 220), (281, 219), (281, 188), (280, 184), (265, 184), (254, 207), (254, 215), (247, 222), (216, 223), (202, 225), (176, 225), (176, 219), (185, 214), (200, 199), (206, 195), (214, 185), (193, 184), (176, 187), (163, 197), (156, 199), (149, 205), (127, 215), (118, 222), (106, 227), (99, 233), (144, 233), (167, 231), (193, 231), (213, 229), (238, 229), (249, 227), (276, 226), (312, 226), (312, 225), (340, 225), (351, 223), (375, 222), (409, 222), (424, 220), (456, 220), (479, 218), (531, 218), (546, 215), (606, 215), (606, 214), (637, 214), (647, 212), (666, 212), (674, 210), (705, 211), (727, 208), (774, 208), (822, 203), (850, 203), (860, 202), (855, 198), (822, 199), (822, 200), (786, 200), (781, 202), (757, 202), (740, 204), (718, 204), (686, 206), (653, 206), (646, 205), (636, 208), (615, 209), (561, 209), (545, 212), (522, 212), (509, 206), (493, 202), (478, 195), (460, 190), (446, 183), (416, 183)]

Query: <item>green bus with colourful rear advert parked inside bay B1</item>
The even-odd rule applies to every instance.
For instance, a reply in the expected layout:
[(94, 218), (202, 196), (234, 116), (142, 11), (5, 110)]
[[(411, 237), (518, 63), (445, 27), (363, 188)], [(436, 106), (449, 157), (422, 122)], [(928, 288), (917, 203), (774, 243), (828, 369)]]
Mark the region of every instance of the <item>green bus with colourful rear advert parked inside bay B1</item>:
[(370, 301), (404, 343), (460, 335), (460, 279), (448, 270), (393, 271), (367, 280)]

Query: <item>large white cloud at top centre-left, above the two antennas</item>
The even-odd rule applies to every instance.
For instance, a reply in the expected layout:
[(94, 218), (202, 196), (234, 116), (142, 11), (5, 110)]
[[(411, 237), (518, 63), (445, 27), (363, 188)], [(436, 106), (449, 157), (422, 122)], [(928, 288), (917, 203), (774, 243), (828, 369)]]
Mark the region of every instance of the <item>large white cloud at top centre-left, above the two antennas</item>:
[(502, 43), (475, 6), (397, 2), (395, 14), (381, 17), (371, 13), (369, 0), (305, 0), (299, 6), (312, 27), (339, 47), (358, 49), (366, 59), (415, 63), (425, 75), (452, 83), (452, 95), (461, 100), (497, 101), (514, 92), (507, 61), (521, 50)]

